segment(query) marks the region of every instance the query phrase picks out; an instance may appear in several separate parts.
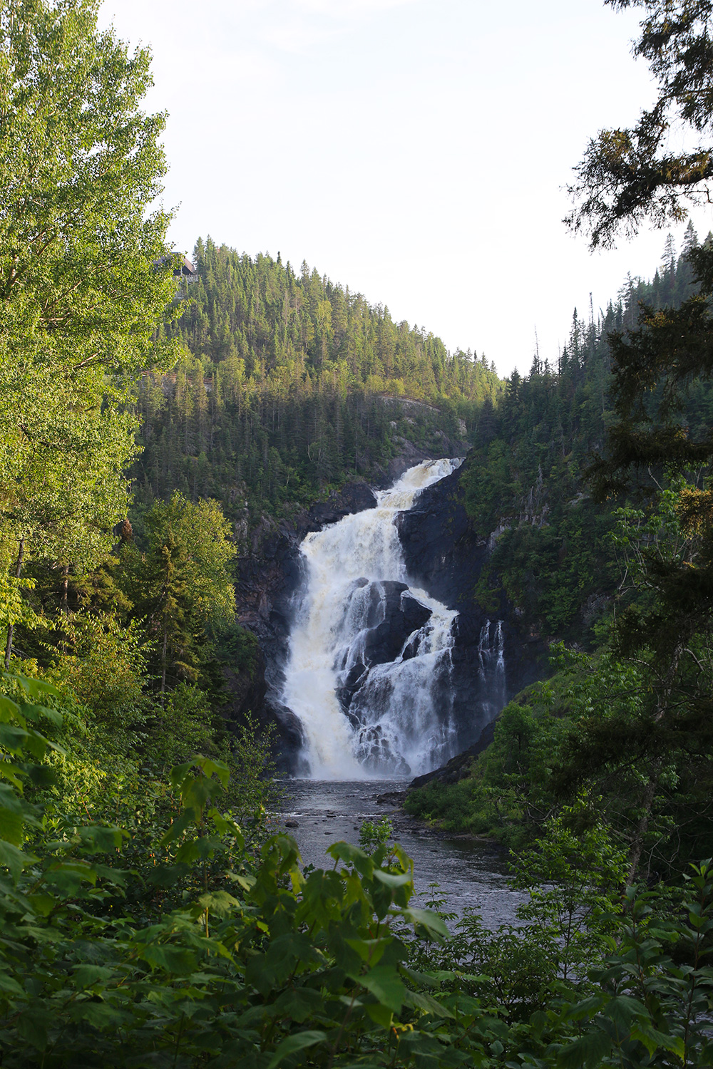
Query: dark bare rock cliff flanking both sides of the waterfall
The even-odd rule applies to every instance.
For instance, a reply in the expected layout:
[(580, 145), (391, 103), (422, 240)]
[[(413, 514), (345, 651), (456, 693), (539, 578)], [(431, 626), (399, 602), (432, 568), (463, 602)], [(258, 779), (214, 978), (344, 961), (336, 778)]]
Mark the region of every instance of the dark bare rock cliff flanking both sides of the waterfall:
[[(397, 458), (394, 471), (385, 472), (385, 484), (398, 477), (399, 468), (405, 470), (421, 459), (410, 452)], [(238, 562), (238, 621), (257, 636), (260, 661), (248, 684), (237, 677), (229, 678), (233, 694), (229, 715), (239, 719), (250, 709), (262, 722), (274, 723), (280, 764), (285, 771), (295, 771), (295, 755), (303, 741), (297, 717), (279, 698), (296, 593), (303, 578), (300, 542), (308, 532), (375, 503), (372, 490), (365, 482), (355, 482), (291, 523), (265, 517), (252, 530), (247, 552)], [(505, 601), (490, 618), (475, 602), (475, 588), (490, 549), (470, 529), (459, 470), (424, 490), (415, 507), (401, 513), (397, 526), (413, 585), (459, 610), (450, 687), (454, 698), (451, 708), (444, 709), (444, 715), (451, 717), (454, 738), (465, 750), (478, 745), (483, 729), (512, 695), (545, 673), (545, 647), (523, 633), (514, 610)], [(428, 613), (414, 599), (402, 600), (402, 584), (391, 586), (387, 601), (390, 598), (393, 605), (388, 603), (384, 623), (369, 639), (368, 659), (374, 664), (393, 660)], [(360, 673), (353, 675), (339, 695), (347, 715), (360, 685)]]

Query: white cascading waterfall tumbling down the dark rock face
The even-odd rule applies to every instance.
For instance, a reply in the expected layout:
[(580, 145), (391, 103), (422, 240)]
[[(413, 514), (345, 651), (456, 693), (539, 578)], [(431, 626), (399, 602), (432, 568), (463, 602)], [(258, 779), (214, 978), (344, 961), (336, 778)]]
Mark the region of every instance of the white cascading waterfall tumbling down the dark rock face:
[[(315, 778), (418, 774), (451, 756), (448, 677), (458, 613), (409, 587), (393, 521), (460, 463), (418, 464), (376, 495), (376, 508), (301, 544), (307, 582), (282, 700), (299, 717)], [(387, 621), (387, 608), (396, 608), (400, 630)], [(376, 640), (396, 640), (393, 655), (374, 655)]]

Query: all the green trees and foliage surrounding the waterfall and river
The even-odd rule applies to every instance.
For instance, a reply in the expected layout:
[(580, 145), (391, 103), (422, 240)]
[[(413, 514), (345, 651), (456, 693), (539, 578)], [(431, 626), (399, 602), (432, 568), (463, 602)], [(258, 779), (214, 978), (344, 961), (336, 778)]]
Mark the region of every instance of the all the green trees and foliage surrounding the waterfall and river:
[[(710, 138), (713, 3), (613, 5), (658, 98), (575, 171), (592, 247), (713, 167), (666, 141)], [(199, 239), (184, 283), (150, 83), (94, 0), (0, 4), (0, 1063), (713, 1065), (711, 237), (501, 382), (279, 253)], [(467, 595), (551, 646), (406, 800), (512, 848), (495, 932), (415, 904), (387, 821), (306, 868), (269, 727), (224, 715), (247, 533), (404, 441), (471, 446)]]

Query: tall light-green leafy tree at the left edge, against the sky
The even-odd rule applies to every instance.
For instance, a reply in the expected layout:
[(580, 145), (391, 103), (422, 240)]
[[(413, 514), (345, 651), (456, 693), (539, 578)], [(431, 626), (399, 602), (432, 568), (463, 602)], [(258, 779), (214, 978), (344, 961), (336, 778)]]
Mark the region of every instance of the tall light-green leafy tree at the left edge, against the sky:
[[(154, 337), (168, 216), (148, 212), (164, 118), (140, 108), (149, 53), (99, 33), (96, 6), (0, 6), (0, 561), (17, 579), (108, 551), (136, 453), (127, 387), (171, 351)], [(27, 622), (3, 593), (10, 628)]]

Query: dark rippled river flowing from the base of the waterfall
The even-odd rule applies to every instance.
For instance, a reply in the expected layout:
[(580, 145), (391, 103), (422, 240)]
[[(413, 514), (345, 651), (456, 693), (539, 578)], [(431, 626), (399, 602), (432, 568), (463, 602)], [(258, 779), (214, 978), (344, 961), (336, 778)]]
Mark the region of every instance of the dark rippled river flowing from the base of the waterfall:
[[(508, 887), (508, 855), (496, 847), (463, 838), (445, 838), (406, 817), (394, 802), (378, 803), (378, 795), (403, 791), (406, 779), (321, 780), (289, 779), (284, 783), (282, 819), (295, 837), (305, 865), (332, 866), (325, 853), (331, 842), (344, 839), (358, 846), (363, 820), (388, 817), (393, 839), (414, 858), (417, 904), (431, 897), (445, 899), (441, 907), (462, 916), (479, 913), (491, 930), (515, 921), (523, 896)], [(430, 887), (437, 884), (437, 888)]]

